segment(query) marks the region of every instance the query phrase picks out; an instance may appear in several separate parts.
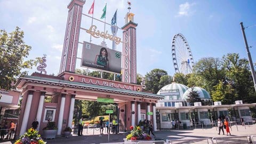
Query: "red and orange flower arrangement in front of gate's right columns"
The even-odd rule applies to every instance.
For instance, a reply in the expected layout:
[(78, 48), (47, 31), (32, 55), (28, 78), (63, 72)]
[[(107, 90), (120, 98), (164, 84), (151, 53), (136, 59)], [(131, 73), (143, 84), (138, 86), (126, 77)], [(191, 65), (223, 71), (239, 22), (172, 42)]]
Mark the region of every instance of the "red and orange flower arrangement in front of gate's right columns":
[(140, 126), (131, 126), (131, 133), (126, 136), (127, 140), (151, 140), (150, 135), (140, 129)]

